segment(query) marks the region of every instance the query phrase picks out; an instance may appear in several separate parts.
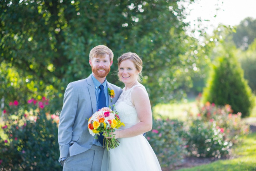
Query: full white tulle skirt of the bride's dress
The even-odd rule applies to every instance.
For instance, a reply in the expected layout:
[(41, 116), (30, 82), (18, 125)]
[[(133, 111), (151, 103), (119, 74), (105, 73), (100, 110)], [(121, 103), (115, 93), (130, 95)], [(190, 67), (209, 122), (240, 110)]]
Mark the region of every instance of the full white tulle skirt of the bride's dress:
[(161, 171), (156, 154), (143, 135), (118, 140), (119, 146), (108, 152), (108, 171)]

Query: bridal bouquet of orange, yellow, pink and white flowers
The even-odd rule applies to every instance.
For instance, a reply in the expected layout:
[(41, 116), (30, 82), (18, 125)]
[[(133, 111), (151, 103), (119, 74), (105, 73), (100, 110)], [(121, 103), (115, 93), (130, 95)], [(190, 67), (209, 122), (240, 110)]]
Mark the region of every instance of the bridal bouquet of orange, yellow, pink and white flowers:
[[(100, 132), (104, 136), (113, 136), (109, 133), (114, 132), (115, 129), (120, 128), (120, 126), (125, 126), (121, 122), (118, 112), (112, 111), (109, 107), (103, 107), (99, 111), (95, 112), (92, 117), (88, 120), (88, 130), (92, 136), (95, 134), (100, 135)], [(95, 137), (96, 138), (96, 137)], [(113, 138), (105, 138), (103, 140), (103, 147), (107, 147), (107, 150), (114, 149), (118, 147), (119, 142), (113, 136)]]

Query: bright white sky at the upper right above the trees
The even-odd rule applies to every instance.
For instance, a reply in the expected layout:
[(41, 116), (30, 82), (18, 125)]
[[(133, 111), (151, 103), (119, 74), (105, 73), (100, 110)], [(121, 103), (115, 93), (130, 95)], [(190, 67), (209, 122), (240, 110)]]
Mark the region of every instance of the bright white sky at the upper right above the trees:
[[(216, 11), (216, 8), (219, 10)], [(209, 34), (219, 23), (235, 26), (246, 17), (256, 19), (256, 0), (195, 0), (187, 9), (191, 9), (191, 12), (186, 21), (194, 21), (197, 17), (210, 20), (204, 22)]]

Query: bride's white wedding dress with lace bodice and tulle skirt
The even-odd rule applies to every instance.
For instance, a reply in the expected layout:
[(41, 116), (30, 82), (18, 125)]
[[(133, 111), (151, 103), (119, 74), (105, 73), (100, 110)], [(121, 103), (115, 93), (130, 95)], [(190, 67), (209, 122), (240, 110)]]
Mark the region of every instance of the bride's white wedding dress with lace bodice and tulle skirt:
[[(136, 109), (131, 103), (131, 91), (136, 86), (145, 87), (141, 84), (132, 88), (123, 89), (118, 101), (116, 111), (127, 129), (140, 122)], [(147, 92), (147, 91), (146, 91)], [(156, 154), (149, 142), (143, 135), (130, 138), (118, 138), (119, 146), (109, 150), (109, 169), (108, 171), (161, 171)]]

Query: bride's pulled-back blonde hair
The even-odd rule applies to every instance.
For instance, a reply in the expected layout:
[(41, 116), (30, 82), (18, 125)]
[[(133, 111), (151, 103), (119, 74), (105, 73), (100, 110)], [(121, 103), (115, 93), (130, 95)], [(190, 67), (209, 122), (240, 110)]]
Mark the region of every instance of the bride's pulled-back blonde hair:
[(142, 82), (142, 60), (140, 59), (140, 57), (133, 52), (127, 52), (127, 53), (121, 55), (118, 58), (118, 69), (119, 69), (121, 62), (123, 62), (124, 60), (131, 60), (131, 62), (133, 62), (136, 69), (139, 71), (137, 79), (139, 82)]

